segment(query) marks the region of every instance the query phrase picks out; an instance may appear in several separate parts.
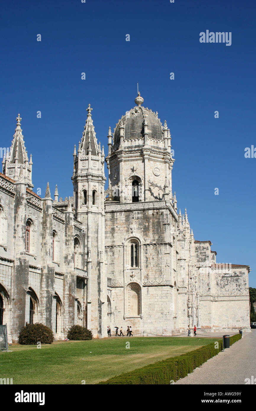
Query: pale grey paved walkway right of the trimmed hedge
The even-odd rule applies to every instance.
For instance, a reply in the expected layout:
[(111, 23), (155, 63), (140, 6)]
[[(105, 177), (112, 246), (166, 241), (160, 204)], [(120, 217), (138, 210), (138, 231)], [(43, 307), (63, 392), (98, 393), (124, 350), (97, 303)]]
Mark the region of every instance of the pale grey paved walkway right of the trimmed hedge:
[[(228, 332), (227, 332), (228, 334)], [(246, 378), (256, 378), (256, 329), (244, 332), (230, 348), (210, 358), (188, 376), (179, 379), (182, 384), (242, 384)]]

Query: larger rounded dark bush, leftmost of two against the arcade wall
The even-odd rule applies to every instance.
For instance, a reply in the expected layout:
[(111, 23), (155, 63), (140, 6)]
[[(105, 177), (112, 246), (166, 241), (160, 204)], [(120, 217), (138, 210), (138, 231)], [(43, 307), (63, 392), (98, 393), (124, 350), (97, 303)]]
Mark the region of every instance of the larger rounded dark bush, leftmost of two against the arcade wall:
[(19, 333), (19, 344), (51, 344), (54, 341), (54, 335), (50, 328), (41, 323), (28, 324), (22, 327)]

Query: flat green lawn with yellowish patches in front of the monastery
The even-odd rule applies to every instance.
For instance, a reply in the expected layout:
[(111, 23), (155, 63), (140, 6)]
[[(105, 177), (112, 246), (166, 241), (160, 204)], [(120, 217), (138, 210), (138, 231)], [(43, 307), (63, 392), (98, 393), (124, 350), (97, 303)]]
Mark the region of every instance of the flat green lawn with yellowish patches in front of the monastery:
[[(95, 384), (123, 372), (175, 357), (216, 338), (116, 337), (92, 341), (61, 341), (13, 345), (0, 353), (0, 378), (14, 384)], [(130, 349), (126, 349), (126, 341)], [(91, 351), (91, 353), (90, 353)]]

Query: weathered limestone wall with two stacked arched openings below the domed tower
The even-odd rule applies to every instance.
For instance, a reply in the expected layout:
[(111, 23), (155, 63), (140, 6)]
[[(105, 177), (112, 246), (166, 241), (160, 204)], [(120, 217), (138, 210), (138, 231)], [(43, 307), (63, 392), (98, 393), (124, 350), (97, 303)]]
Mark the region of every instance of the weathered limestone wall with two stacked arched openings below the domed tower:
[[(120, 205), (116, 207), (120, 212), (108, 212), (106, 208), (105, 252), (113, 313), (110, 326), (131, 325), (135, 333), (170, 335), (178, 328), (173, 318), (176, 277), (172, 272), (172, 245), (166, 241), (164, 225), (170, 221), (170, 213), (166, 214), (166, 208), (147, 209), (147, 203), (137, 203), (137, 210), (128, 210), (129, 204), (125, 205), (126, 211)], [(135, 203), (132, 207), (136, 208)], [(130, 264), (130, 239), (139, 245), (137, 268)], [(130, 317), (127, 312), (131, 283), (140, 287), (142, 318)]]

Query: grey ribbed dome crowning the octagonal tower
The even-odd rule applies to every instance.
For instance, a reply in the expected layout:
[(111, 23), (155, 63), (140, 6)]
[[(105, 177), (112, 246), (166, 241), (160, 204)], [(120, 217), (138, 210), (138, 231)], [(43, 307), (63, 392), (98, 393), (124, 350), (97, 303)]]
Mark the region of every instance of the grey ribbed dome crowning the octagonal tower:
[(124, 127), (124, 140), (137, 140), (143, 138), (144, 121), (146, 121), (148, 125), (149, 139), (163, 140), (163, 127), (159, 118), (157, 117), (157, 113), (155, 114), (148, 108), (139, 105), (138, 107), (134, 107), (133, 109), (128, 111), (119, 120), (114, 132), (114, 145), (119, 145), (120, 142), (121, 123), (123, 123)]

